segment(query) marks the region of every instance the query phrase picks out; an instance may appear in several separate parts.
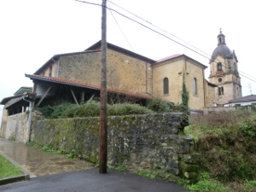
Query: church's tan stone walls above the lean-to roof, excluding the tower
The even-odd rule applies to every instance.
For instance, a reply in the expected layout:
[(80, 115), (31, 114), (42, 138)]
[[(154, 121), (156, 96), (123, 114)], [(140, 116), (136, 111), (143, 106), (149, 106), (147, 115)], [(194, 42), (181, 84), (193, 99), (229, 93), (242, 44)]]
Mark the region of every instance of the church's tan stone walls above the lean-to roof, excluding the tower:
[[(190, 109), (202, 110), (204, 107), (212, 107), (212, 103), (207, 106), (209, 102), (206, 100), (208, 94), (212, 94), (211, 91), (207, 92), (205, 84), (204, 69), (207, 67), (200, 62), (186, 55), (173, 55), (153, 61), (113, 44), (108, 45), (108, 89), (133, 95), (160, 97), (167, 102), (180, 104), (184, 82), (189, 91)], [(35, 74), (49, 76), (51, 71), (52, 77), (100, 87), (101, 65), (101, 50), (98, 44), (98, 47), (93, 45), (84, 52), (55, 55)], [(163, 92), (165, 78), (169, 80), (168, 94)], [(49, 85), (41, 84), (38, 89), (37, 86), (34, 88), (37, 96), (44, 96)], [(53, 92), (54, 88), (50, 91)], [(52, 94), (50, 91), (49, 96)]]

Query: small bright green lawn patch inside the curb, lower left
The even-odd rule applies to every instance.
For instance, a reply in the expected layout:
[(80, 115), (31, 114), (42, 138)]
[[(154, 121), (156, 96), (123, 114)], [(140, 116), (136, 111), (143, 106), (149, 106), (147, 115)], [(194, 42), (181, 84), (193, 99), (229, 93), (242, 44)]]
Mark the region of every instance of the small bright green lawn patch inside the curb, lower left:
[(0, 155), (0, 178), (14, 177), (23, 174), (21, 168), (14, 166)]

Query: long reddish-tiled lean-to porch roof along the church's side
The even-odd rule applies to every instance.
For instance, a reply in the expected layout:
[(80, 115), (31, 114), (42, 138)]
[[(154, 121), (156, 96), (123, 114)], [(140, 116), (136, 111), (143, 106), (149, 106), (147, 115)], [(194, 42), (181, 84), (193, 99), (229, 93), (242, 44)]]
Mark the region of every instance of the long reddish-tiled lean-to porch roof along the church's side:
[[(83, 82), (79, 82), (79, 81), (72, 81), (72, 80), (68, 80), (68, 79), (46, 77), (46, 76), (42, 76), (42, 75), (32, 75), (32, 74), (25, 74), (25, 76), (26, 76), (26, 78), (47, 81), (47, 82), (51, 82), (51, 83), (55, 83), (55, 84), (67, 84), (67, 85), (72, 85), (72, 86), (76, 86), (76, 87), (89, 88), (92, 90), (101, 90), (100, 86), (92, 85), (92, 84), (84, 84)], [(152, 96), (146, 96), (143, 94), (135, 94), (135, 93), (131, 93), (131, 92), (123, 91), (123, 90), (108, 89), (108, 92), (109, 93), (119, 93), (119, 94), (125, 95), (125, 96), (135, 96), (137, 98), (143, 98), (143, 99), (153, 99)]]

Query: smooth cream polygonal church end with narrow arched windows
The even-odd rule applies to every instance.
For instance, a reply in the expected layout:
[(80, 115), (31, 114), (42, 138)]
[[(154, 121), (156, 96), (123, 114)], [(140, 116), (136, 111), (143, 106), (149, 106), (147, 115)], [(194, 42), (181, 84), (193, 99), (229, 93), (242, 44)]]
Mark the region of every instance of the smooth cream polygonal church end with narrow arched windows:
[[(153, 65), (154, 96), (180, 104), (184, 82), (189, 91), (189, 108), (202, 110), (205, 107), (205, 68), (206, 66), (186, 55), (177, 55), (155, 63)], [(165, 78), (169, 79), (168, 94), (164, 94), (163, 90)]]

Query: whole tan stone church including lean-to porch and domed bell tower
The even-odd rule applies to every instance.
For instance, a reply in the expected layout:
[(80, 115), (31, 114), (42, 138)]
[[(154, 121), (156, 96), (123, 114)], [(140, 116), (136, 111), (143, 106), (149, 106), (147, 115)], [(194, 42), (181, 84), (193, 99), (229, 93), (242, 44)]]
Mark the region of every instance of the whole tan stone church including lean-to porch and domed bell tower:
[[(190, 112), (214, 104), (221, 106), (241, 97), (236, 54), (226, 46), (221, 31), (210, 59), (209, 80), (205, 78), (207, 66), (187, 55), (154, 61), (109, 43), (107, 52), (109, 103), (130, 97), (145, 105), (158, 97), (178, 105), (183, 102), (183, 84), (189, 93)], [(84, 51), (54, 55), (35, 73), (25, 76), (33, 81), (36, 106), (97, 100), (101, 84), (101, 41)], [(1, 104), (12, 115), (10, 112), (20, 111), (22, 98), (23, 95), (19, 99), (7, 97)]]

